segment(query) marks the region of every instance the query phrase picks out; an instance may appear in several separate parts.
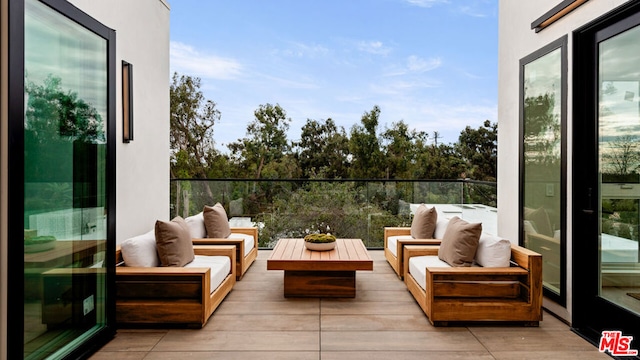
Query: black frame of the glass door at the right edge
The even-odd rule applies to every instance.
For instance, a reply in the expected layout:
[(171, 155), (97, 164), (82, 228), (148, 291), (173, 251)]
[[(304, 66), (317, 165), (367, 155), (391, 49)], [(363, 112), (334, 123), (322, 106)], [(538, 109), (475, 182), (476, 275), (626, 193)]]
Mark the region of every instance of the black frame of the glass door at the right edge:
[[(573, 32), (572, 327), (598, 345), (603, 330), (636, 339), (640, 317), (598, 296), (598, 42), (640, 24), (640, 2), (627, 4)], [(578, 226), (579, 224), (579, 226)]]

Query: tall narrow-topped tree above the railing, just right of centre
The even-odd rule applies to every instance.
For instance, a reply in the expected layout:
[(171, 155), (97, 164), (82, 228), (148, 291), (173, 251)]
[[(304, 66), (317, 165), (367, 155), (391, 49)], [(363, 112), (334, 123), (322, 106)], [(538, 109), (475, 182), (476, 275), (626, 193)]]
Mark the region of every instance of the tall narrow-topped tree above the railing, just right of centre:
[(378, 138), (380, 108), (375, 105), (370, 112), (362, 115), (362, 125), (351, 128), (349, 151), (351, 152), (351, 178), (374, 179), (384, 174), (384, 157)]

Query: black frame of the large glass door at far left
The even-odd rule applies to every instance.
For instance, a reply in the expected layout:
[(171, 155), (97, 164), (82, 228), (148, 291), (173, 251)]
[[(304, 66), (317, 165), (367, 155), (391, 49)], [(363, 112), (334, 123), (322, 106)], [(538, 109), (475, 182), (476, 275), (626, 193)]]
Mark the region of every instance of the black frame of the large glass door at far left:
[[(107, 323), (100, 331), (84, 341), (67, 358), (85, 358), (99, 349), (115, 335), (115, 218), (116, 218), (116, 34), (85, 12), (66, 0), (38, 0), (51, 7), (62, 16), (75, 21), (89, 31), (107, 40), (107, 253), (105, 255), (106, 274), (106, 315)], [(8, 74), (8, 186), (7, 194), (10, 211), (8, 216), (8, 238), (23, 237), (24, 215), (24, 14), (25, 0), (9, 1), (9, 74)], [(24, 247), (20, 241), (8, 241), (8, 296), (7, 358), (21, 359), (24, 344)], [(18, 294), (18, 295), (16, 295)]]

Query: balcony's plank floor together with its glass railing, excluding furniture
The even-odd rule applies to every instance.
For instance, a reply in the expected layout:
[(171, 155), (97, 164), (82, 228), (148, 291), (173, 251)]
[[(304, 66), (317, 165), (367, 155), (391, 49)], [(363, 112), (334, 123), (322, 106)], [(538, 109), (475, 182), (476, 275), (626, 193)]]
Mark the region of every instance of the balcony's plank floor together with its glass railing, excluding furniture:
[[(92, 359), (608, 358), (550, 313), (537, 328), (434, 327), (385, 260), (383, 227), (409, 226), (416, 204), (495, 231), (495, 190), (463, 180), (173, 180), (172, 215), (222, 203), (233, 225), (260, 228), (258, 259), (203, 329), (119, 329)], [(363, 239), (374, 271), (357, 273), (354, 299), (284, 298), (283, 272), (267, 271), (275, 241), (326, 226)]]

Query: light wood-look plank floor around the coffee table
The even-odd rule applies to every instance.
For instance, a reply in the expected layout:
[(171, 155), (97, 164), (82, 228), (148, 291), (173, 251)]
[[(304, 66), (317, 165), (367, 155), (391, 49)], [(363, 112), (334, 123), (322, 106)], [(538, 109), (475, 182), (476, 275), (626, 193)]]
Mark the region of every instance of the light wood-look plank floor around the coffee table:
[(119, 330), (91, 359), (609, 359), (545, 313), (538, 328), (435, 328), (387, 264), (358, 272), (355, 299), (285, 299), (270, 251), (200, 330)]

